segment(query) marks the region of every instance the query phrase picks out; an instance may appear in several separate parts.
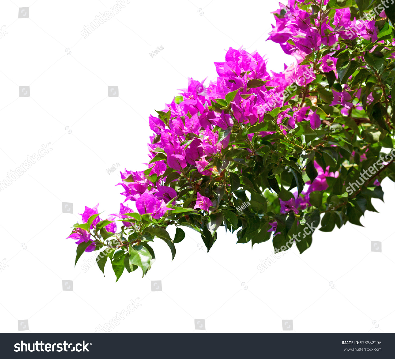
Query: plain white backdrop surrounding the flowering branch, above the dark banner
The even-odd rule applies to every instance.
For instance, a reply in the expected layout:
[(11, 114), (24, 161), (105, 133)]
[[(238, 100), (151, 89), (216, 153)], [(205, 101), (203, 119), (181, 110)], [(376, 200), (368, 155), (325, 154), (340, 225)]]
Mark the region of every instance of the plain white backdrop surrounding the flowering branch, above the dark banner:
[[(83, 273), (93, 253), (74, 268), (77, 246), (65, 238), (77, 213), (98, 202), (100, 212), (119, 211), (119, 172), (106, 169), (145, 169), (148, 117), (187, 87), (187, 77), (214, 80), (213, 62), (229, 47), (267, 54), (274, 71), (293, 62), (265, 41), (274, 0), (132, 1), (83, 38), (83, 26), (115, 4), (0, 2), (8, 32), (0, 39), (0, 179), (42, 144), (53, 148), (0, 191), (0, 261), (8, 265), (0, 272), (0, 331), (18, 331), (17, 320), (28, 319), (31, 332), (93, 332), (137, 298), (141, 306), (113, 331), (204, 333), (195, 318), (207, 332), (280, 332), (282, 320), (293, 320), (295, 332), (394, 331), (389, 180), (386, 204), (373, 200), (380, 214), (367, 212), (365, 228), (317, 231), (312, 248), (302, 255), (292, 248), (263, 273), (257, 267), (271, 242), (251, 250), (220, 231), (207, 254), (188, 229), (173, 262), (167, 245), (154, 242), (157, 259), (144, 278), (125, 271), (115, 283), (109, 263), (105, 278), (97, 267)], [(30, 7), (28, 19), (18, 19), (19, 7)], [(119, 86), (118, 98), (108, 97), (108, 85)], [(30, 97), (20, 98), (19, 86), (30, 86)], [(62, 213), (62, 202), (73, 203), (73, 214)], [(382, 242), (382, 253), (371, 252), (371, 241)], [(62, 280), (72, 280), (73, 291), (63, 291)], [(151, 292), (151, 280), (162, 280), (162, 291)]]

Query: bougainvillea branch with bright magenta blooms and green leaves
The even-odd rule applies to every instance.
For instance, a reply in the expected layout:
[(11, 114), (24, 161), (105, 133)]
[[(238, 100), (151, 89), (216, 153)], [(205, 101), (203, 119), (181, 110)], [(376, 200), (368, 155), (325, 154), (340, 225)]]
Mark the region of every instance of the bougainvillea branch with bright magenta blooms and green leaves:
[(85, 207), (73, 226), (76, 263), (99, 251), (99, 268), (109, 259), (118, 280), (149, 271), (156, 238), (174, 259), (184, 227), (207, 251), (223, 226), (237, 243), (303, 253), (316, 228), (361, 226), (372, 198), (383, 200), (382, 180), (395, 182), (393, 3), (290, 0), (269, 34), (295, 57), (283, 72), (230, 48), (214, 62), (216, 81), (188, 79), (150, 116), (150, 162), (121, 173), (119, 212), (102, 220), (98, 205)]

